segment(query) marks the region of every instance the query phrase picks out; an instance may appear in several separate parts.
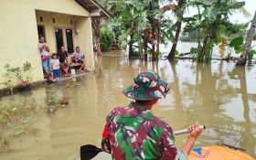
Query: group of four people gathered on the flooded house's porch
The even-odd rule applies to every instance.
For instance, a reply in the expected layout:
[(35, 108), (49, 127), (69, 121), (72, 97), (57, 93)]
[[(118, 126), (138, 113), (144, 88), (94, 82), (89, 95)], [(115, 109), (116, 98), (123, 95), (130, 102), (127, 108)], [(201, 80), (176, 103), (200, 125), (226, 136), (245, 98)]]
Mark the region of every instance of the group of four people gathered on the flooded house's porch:
[(64, 46), (60, 47), (57, 53), (52, 53), (50, 57), (49, 48), (45, 42), (45, 37), (41, 36), (39, 37), (38, 48), (41, 55), (42, 66), (48, 75), (49, 81), (59, 79), (60, 75), (70, 77), (70, 67), (77, 67), (80, 73), (84, 71), (84, 54), (80, 51), (80, 47), (76, 47), (71, 56), (70, 64), (69, 55)]

